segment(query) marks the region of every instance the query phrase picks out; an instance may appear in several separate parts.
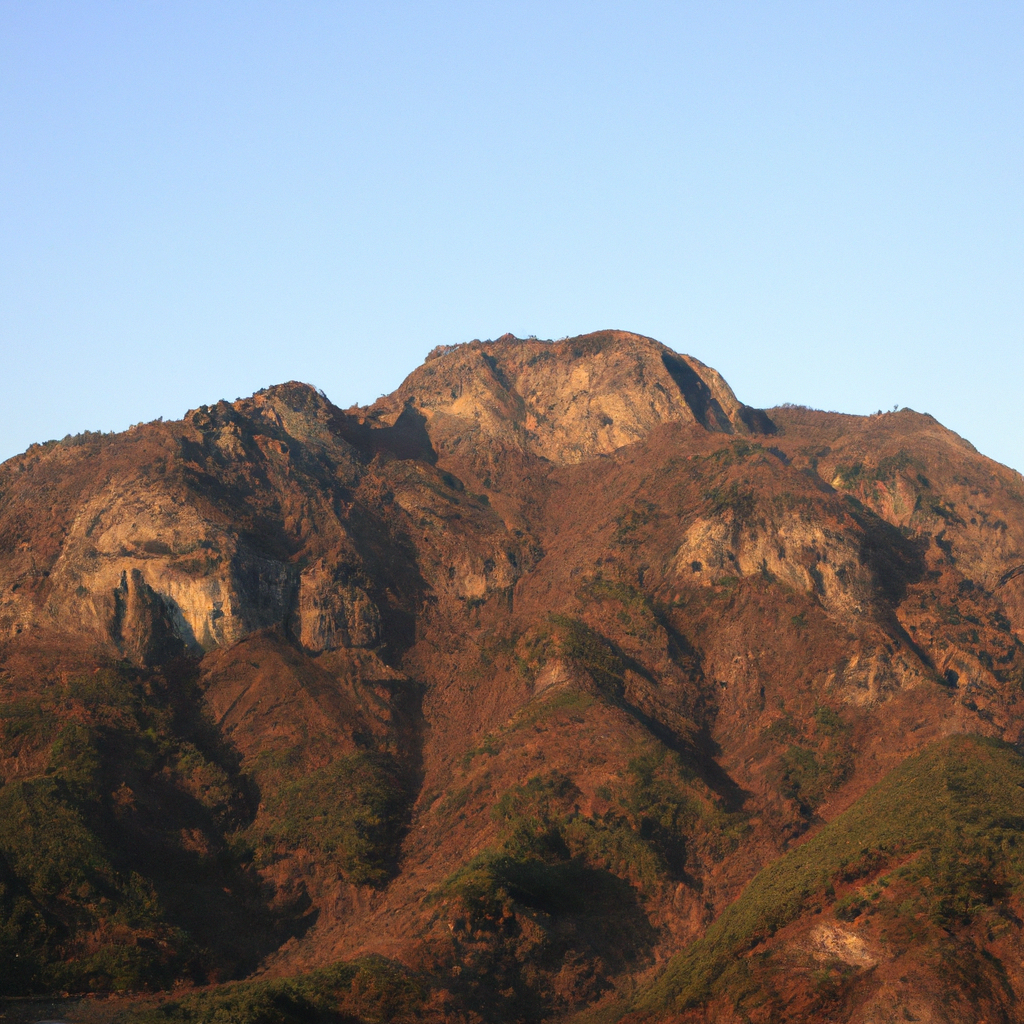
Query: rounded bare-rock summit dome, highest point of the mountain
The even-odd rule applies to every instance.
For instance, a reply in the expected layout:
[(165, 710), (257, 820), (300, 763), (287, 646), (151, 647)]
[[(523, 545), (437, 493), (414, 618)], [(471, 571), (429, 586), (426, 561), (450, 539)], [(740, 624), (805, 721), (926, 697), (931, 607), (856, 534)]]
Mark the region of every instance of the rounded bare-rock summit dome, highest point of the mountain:
[(740, 402), (722, 376), (691, 355), (628, 331), (540, 341), (438, 346), (369, 414), (392, 423), (412, 407), (432, 438), (469, 438), (578, 463), (645, 437), (663, 423), (715, 433), (771, 434), (766, 413)]

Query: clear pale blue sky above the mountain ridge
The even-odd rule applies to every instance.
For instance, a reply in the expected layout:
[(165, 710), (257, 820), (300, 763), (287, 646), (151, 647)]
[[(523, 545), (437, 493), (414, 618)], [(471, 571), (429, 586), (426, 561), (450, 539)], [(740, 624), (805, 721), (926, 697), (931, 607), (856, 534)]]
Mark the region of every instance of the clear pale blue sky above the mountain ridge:
[(0, 0), (0, 458), (623, 328), (1024, 469), (1024, 4)]

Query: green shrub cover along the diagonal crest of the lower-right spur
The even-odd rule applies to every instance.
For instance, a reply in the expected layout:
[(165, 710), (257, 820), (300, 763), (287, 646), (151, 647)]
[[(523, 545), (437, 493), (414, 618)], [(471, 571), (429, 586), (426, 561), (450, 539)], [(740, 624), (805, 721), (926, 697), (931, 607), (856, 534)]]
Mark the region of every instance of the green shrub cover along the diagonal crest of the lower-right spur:
[[(911, 857), (913, 853), (919, 856)], [(909, 858), (909, 859), (908, 859)], [(890, 773), (813, 839), (766, 867), (709, 929), (675, 956), (640, 1009), (695, 1006), (727, 989), (738, 954), (772, 935), (834, 886), (885, 871), (885, 886), (927, 879), (932, 920), (953, 925), (1024, 884), (1024, 758), (1015, 748), (956, 736)], [(838, 908), (855, 914), (857, 899)]]

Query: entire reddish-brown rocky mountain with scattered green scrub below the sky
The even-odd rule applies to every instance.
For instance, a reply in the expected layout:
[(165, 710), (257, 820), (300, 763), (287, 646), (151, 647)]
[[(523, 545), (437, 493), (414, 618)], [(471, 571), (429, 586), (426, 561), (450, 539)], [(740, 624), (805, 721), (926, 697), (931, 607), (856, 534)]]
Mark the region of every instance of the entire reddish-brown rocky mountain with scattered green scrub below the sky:
[(1020, 474), (625, 332), (35, 444), (7, 1019), (1024, 1020), (1022, 637)]

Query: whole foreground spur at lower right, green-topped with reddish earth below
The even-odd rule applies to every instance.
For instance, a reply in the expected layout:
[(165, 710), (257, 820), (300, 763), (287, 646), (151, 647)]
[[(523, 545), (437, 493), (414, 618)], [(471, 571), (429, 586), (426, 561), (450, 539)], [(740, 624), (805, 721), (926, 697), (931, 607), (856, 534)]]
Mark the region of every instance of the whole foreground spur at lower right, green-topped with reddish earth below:
[(1024, 758), (991, 740), (908, 758), (758, 874), (631, 1019), (1016, 1020), (1022, 791)]

